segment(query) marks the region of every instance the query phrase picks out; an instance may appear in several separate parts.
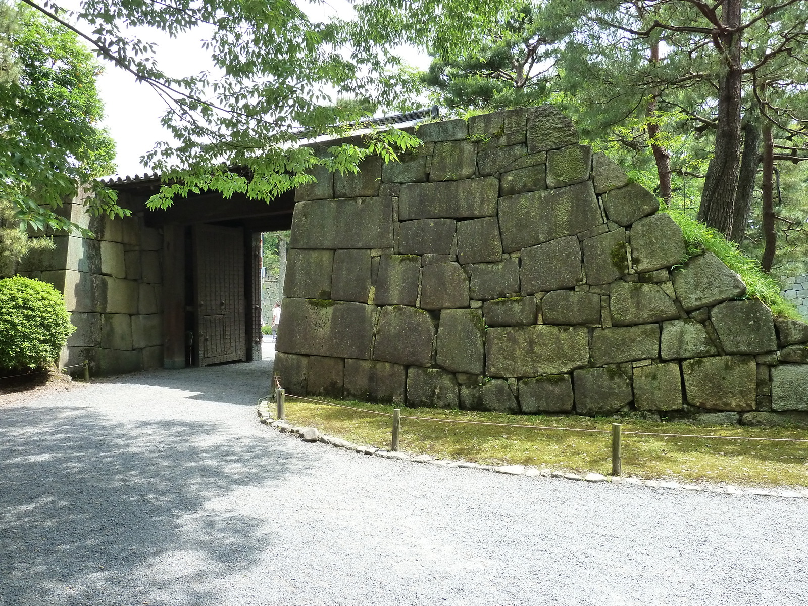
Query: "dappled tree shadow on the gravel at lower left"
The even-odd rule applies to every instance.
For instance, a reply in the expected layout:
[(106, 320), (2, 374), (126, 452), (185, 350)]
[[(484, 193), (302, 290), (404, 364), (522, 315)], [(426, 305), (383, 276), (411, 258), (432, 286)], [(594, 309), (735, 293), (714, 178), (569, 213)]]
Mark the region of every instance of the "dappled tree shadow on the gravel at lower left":
[(305, 474), (214, 423), (48, 410), (2, 414), (2, 606), (208, 603), (208, 582), (241, 577), (274, 541), (257, 530), (266, 512), (238, 508), (242, 495)]

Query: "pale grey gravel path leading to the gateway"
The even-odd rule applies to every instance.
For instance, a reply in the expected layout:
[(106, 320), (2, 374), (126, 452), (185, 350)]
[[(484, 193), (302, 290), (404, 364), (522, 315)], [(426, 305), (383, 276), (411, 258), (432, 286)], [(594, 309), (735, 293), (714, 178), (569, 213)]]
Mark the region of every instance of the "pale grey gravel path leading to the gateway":
[(256, 419), (269, 364), (0, 408), (0, 605), (808, 603), (802, 499), (302, 444)]

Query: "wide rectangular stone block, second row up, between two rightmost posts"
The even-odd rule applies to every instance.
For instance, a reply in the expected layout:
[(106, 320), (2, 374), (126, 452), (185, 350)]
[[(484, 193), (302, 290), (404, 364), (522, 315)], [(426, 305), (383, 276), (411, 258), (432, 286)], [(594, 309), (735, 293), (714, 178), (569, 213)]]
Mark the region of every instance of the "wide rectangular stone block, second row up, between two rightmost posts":
[(538, 377), (570, 372), (589, 362), (583, 326), (515, 326), (486, 330), (486, 375)]

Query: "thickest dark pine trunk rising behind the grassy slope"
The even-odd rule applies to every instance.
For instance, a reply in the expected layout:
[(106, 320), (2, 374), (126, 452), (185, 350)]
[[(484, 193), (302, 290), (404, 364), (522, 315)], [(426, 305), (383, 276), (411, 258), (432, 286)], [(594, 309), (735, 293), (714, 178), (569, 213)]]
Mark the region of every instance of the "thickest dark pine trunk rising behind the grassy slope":
[[(737, 28), (741, 23), (742, 0), (725, 0), (722, 25)], [(701, 191), (698, 219), (730, 237), (741, 156), (741, 33), (722, 32), (725, 71), (718, 79), (718, 128), (715, 153), (709, 162), (705, 187)]]

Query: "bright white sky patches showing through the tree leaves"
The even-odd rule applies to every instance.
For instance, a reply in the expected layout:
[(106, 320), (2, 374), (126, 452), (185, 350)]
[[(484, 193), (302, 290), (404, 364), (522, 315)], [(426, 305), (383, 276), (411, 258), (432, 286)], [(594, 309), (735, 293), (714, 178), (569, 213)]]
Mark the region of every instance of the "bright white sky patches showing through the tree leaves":
[[(62, 6), (78, 4), (65, 2)], [(312, 19), (324, 20), (331, 15), (348, 18), (352, 14), (346, 0), (330, 0), (326, 4), (308, 5)], [(179, 39), (171, 39), (162, 32), (146, 28), (129, 30), (132, 36), (158, 44), (158, 65), (166, 74), (187, 76), (203, 69), (211, 69), (208, 57), (201, 48), (203, 31), (191, 32)], [(402, 48), (401, 56), (410, 65), (426, 69), (429, 57), (415, 48)], [(116, 141), (118, 175), (135, 175), (145, 172), (140, 163), (141, 155), (149, 152), (157, 141), (165, 141), (170, 133), (162, 128), (160, 117), (166, 105), (147, 84), (137, 83), (131, 74), (105, 64), (99, 77), (99, 92), (106, 107), (104, 125)]]

